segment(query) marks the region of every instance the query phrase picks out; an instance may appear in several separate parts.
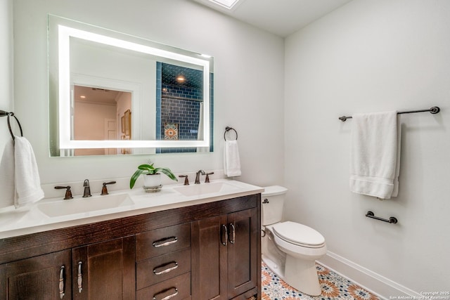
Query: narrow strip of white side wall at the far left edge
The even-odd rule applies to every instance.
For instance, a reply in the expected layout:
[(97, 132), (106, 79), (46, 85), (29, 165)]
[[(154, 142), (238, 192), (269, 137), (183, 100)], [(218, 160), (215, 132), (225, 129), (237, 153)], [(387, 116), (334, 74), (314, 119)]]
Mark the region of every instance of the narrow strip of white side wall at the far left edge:
[[(13, 101), (13, 0), (0, 1), (0, 110), (14, 110)], [(11, 122), (15, 124), (15, 120)], [(11, 139), (6, 117), (0, 118), (0, 157)], [(14, 131), (15, 132), (15, 131)], [(19, 133), (16, 133), (19, 134)]]

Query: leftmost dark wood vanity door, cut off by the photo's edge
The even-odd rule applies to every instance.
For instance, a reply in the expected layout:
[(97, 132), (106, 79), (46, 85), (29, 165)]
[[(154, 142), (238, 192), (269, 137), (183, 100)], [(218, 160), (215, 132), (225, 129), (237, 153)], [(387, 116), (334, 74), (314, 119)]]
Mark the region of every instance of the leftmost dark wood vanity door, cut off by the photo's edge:
[(0, 265), (0, 299), (71, 299), (70, 250)]

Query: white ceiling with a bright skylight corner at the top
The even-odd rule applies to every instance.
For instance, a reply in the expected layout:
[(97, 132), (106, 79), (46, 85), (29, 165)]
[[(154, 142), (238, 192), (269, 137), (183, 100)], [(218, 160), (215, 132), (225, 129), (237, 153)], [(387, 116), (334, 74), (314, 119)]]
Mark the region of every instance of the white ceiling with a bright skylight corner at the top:
[(280, 37), (288, 37), (352, 0), (240, 0), (231, 10), (210, 0), (194, 1)]

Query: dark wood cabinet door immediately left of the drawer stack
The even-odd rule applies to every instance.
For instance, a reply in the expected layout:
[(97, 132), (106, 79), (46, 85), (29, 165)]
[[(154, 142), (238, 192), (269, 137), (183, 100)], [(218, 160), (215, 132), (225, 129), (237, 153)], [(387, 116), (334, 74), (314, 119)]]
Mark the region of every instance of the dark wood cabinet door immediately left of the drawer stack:
[(135, 299), (134, 236), (72, 249), (73, 299)]

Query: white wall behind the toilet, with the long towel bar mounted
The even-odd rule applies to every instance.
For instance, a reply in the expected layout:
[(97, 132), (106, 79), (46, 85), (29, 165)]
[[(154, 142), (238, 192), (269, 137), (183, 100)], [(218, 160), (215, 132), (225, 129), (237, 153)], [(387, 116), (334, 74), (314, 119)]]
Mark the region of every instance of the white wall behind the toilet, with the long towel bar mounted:
[[(449, 20), (447, 0), (357, 0), (285, 41), (285, 212), (406, 292), (449, 290)], [(352, 120), (338, 117), (433, 105), (401, 115), (399, 197), (350, 193)]]

